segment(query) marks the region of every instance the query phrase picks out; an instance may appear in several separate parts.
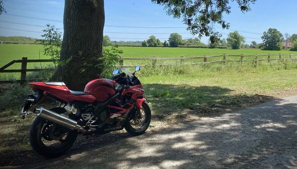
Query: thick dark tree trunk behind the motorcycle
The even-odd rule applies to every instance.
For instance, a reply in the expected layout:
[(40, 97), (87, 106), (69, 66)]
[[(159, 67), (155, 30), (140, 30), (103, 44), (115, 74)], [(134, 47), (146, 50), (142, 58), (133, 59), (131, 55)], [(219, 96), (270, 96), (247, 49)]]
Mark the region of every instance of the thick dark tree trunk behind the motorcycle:
[(60, 64), (52, 80), (83, 90), (99, 77), (104, 20), (104, 0), (65, 0)]

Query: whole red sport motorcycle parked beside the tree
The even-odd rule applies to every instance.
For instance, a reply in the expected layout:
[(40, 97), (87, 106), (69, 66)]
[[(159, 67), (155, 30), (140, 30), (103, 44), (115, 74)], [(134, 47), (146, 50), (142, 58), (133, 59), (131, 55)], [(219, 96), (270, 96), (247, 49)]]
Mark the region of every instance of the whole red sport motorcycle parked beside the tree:
[[(126, 68), (113, 71), (114, 77), (89, 82), (84, 91), (72, 91), (63, 82), (29, 83), (34, 94), (22, 109), (25, 118), (32, 105), (49, 97), (59, 105), (49, 110), (34, 109), (37, 118), (30, 128), (32, 148), (45, 157), (57, 157), (74, 143), (77, 134), (104, 134), (125, 128), (132, 135), (143, 134), (150, 123), (151, 111), (145, 90), (135, 73)], [(33, 109), (33, 108), (32, 108)]]

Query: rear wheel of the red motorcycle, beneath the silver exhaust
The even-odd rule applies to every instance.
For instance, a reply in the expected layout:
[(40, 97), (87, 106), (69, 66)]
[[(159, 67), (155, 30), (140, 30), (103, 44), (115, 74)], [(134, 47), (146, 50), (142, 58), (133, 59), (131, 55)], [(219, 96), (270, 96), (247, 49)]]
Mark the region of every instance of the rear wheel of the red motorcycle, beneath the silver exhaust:
[[(61, 107), (49, 109), (58, 114), (65, 113)], [(62, 155), (75, 142), (77, 131), (61, 127), (46, 119), (37, 117), (30, 128), (30, 143), (40, 155), (53, 158)]]

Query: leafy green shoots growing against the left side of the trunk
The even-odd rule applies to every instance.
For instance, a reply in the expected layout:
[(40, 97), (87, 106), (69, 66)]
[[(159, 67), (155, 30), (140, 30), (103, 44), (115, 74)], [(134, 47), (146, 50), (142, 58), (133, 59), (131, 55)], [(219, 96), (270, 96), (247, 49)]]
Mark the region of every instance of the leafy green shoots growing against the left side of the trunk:
[(37, 40), (37, 42), (44, 45), (44, 54), (50, 56), (56, 67), (61, 53), (62, 33), (50, 24), (47, 24), (47, 28), (42, 31), (45, 33), (41, 35), (44, 39)]

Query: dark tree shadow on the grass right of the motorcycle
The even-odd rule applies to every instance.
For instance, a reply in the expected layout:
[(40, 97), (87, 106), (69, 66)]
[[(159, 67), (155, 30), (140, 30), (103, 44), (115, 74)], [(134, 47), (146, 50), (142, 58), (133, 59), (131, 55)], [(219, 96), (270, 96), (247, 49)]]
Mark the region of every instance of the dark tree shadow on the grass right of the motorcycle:
[(183, 122), (189, 115), (218, 116), (275, 99), (266, 95), (238, 94), (220, 86), (145, 84), (144, 89), (153, 118), (160, 121)]

